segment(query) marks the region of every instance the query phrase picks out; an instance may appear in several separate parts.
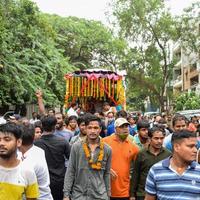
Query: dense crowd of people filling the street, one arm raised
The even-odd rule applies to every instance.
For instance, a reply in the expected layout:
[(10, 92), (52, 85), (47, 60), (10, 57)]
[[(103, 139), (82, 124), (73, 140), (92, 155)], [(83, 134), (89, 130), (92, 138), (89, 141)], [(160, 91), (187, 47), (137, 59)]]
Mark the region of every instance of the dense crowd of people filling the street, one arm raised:
[(0, 125), (0, 200), (198, 200), (198, 117), (102, 112), (14, 115)]

